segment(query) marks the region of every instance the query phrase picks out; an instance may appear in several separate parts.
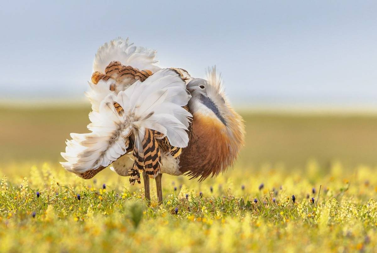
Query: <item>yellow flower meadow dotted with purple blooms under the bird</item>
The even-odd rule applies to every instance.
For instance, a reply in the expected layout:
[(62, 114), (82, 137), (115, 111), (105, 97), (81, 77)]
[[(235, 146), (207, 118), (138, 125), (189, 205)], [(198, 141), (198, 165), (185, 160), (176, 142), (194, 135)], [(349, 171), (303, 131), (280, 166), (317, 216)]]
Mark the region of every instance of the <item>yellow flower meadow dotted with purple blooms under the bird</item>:
[[(25, 175), (19, 176), (20, 171)], [(345, 172), (346, 171), (346, 172)], [(109, 171), (0, 169), (1, 252), (375, 252), (375, 168), (281, 164), (204, 182), (163, 175), (164, 203)]]

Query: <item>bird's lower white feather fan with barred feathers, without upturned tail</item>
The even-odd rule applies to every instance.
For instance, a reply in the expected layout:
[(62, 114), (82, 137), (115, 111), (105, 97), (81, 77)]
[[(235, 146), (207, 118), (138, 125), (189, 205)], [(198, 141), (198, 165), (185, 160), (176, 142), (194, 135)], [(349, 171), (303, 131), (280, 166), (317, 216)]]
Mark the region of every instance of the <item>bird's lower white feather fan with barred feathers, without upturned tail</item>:
[(170, 69), (159, 70), (144, 82), (136, 81), (118, 94), (108, 93), (98, 111), (89, 114), (92, 132), (72, 133), (72, 140), (67, 140), (66, 152), (61, 153), (67, 162), (61, 164), (89, 178), (133, 150), (130, 182), (139, 182), (138, 170), (142, 169), (150, 177), (157, 176), (161, 158), (156, 139), (166, 136), (175, 147), (188, 145), (192, 115), (181, 106), (190, 98), (185, 82)]

